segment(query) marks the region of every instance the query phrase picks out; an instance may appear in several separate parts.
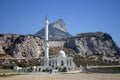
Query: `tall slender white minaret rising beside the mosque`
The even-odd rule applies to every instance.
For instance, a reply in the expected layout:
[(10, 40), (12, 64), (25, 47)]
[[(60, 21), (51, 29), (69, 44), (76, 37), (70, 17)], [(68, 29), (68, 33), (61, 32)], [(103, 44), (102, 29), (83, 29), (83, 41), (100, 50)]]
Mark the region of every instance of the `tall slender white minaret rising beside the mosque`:
[(48, 18), (45, 17), (45, 58), (49, 59), (49, 43), (48, 43)]

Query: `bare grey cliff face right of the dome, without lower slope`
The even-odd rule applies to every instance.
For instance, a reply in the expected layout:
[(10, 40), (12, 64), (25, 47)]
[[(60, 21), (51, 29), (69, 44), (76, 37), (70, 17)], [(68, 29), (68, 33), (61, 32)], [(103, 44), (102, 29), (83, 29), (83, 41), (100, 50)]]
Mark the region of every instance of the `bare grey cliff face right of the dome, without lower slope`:
[(119, 48), (107, 33), (84, 33), (67, 39), (65, 47), (75, 50), (77, 54), (85, 55), (120, 55)]

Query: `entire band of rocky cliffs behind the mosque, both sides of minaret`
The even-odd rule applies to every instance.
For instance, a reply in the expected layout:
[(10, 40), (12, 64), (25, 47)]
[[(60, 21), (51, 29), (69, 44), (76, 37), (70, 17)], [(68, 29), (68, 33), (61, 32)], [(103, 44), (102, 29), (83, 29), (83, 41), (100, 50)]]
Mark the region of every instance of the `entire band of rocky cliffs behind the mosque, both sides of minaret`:
[[(0, 59), (39, 58), (44, 55), (43, 41), (30, 35), (0, 34)], [(67, 55), (73, 56), (77, 66), (120, 64), (120, 49), (107, 33), (78, 34), (62, 40), (49, 41), (49, 45), (50, 55), (57, 55), (62, 49)], [(3, 63), (0, 60), (0, 64), (1, 62)]]

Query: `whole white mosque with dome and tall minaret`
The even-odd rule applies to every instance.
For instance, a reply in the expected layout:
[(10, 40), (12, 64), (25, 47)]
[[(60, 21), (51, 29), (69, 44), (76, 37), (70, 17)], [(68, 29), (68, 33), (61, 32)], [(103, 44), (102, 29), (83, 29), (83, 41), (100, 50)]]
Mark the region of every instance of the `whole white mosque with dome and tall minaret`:
[[(63, 50), (59, 51), (57, 56), (49, 56), (48, 43), (48, 18), (45, 18), (45, 55), (41, 58), (40, 66), (33, 66), (33, 71), (72, 71), (75, 68), (73, 57), (68, 57)], [(19, 67), (15, 67), (15, 70)], [(21, 69), (21, 68), (20, 68)], [(18, 71), (18, 70), (17, 70)], [(56, 72), (55, 72), (56, 73)]]

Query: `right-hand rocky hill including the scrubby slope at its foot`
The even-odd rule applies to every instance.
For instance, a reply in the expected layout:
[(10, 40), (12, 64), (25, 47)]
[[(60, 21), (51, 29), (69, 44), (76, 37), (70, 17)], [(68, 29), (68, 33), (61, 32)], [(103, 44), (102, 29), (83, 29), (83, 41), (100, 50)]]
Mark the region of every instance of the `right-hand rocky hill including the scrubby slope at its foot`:
[[(75, 51), (75, 62), (81, 64), (118, 64), (120, 52), (112, 37), (107, 33), (83, 33), (68, 38), (64, 44), (66, 48)], [(78, 60), (78, 61), (76, 61)]]

